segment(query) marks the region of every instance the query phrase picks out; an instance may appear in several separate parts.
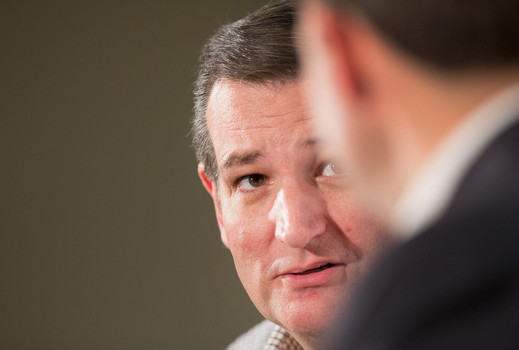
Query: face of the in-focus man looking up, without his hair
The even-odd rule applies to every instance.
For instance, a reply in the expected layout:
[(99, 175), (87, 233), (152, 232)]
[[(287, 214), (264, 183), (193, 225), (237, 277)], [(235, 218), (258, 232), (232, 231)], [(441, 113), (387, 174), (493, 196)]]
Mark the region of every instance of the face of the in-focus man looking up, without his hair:
[(320, 155), (300, 83), (216, 83), (207, 123), (218, 164), (211, 193), (222, 240), (258, 310), (319, 334), (383, 241)]

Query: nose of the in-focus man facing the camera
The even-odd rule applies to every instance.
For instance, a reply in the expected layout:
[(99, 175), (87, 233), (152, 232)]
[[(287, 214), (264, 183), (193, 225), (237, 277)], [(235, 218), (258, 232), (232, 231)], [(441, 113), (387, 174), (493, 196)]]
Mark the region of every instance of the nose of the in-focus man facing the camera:
[(306, 247), (326, 230), (326, 203), (315, 188), (285, 186), (280, 189), (268, 218), (276, 226), (276, 239), (294, 247)]

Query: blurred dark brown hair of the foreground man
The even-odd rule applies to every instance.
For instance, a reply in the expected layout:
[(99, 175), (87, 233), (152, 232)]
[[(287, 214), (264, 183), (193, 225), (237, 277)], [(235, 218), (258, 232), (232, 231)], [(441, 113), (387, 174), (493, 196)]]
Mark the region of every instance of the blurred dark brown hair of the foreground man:
[(386, 40), (444, 71), (519, 63), (517, 0), (326, 0), (360, 11)]

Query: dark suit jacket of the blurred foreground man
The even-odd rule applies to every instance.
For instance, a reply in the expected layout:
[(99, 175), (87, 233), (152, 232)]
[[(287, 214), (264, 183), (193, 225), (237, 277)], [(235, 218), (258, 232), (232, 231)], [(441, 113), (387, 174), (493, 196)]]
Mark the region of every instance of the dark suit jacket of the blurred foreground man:
[(357, 292), (337, 349), (519, 349), (519, 124), (479, 157), (446, 214)]

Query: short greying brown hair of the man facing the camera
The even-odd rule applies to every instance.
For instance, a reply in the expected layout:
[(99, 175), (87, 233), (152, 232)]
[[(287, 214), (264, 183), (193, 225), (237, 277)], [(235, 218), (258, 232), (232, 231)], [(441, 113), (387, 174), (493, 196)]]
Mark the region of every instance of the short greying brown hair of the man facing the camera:
[(205, 173), (213, 180), (217, 164), (206, 121), (213, 86), (222, 79), (251, 84), (297, 79), (296, 2), (271, 2), (239, 21), (224, 25), (202, 49), (194, 87), (193, 148), (198, 161), (204, 164)]

